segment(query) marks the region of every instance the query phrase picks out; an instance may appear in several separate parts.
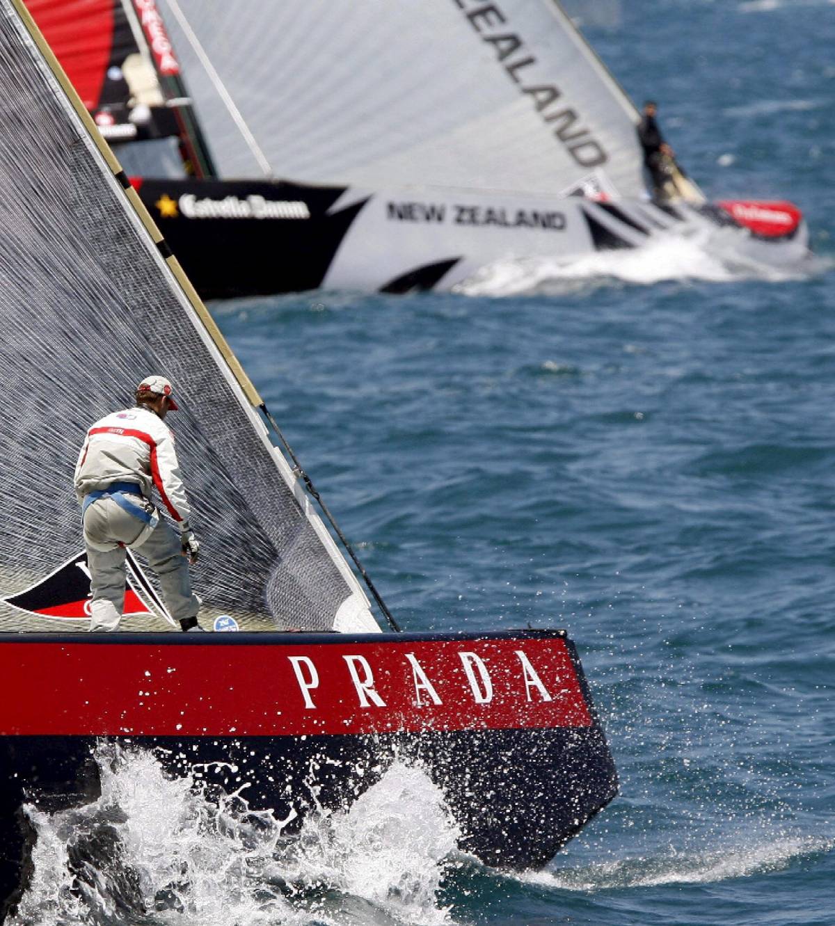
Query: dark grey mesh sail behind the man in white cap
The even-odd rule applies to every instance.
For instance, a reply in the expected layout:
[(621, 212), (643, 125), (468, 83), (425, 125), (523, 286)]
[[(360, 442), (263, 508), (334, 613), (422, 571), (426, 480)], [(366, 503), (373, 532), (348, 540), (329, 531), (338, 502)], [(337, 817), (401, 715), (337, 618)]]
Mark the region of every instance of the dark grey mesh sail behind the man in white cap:
[[(0, 0), (0, 320), (0, 597), (81, 551), (71, 483), (84, 433), (159, 372), (181, 408), (168, 421), (203, 543), (193, 582), (204, 623), (229, 614), (253, 629), (324, 630), (342, 609), (363, 625), (354, 629), (376, 629), (8, 0)], [(86, 621), (0, 602), (3, 630), (78, 624), (86, 630)]]

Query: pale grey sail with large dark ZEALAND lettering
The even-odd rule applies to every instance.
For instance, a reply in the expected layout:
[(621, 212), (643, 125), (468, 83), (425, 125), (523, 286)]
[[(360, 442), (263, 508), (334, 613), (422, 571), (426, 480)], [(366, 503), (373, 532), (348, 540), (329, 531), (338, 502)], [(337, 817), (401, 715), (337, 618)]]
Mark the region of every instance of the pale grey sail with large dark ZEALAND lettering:
[(277, 176), (644, 191), (638, 115), (552, 0), (158, 2), (226, 177), (259, 169), (221, 85)]

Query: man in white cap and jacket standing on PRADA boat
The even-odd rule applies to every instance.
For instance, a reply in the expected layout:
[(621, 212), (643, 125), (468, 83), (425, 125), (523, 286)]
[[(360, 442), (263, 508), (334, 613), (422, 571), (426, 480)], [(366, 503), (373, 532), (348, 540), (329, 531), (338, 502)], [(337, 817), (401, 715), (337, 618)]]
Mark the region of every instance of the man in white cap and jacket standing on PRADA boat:
[[(96, 421), (87, 432), (75, 468), (87, 564), (93, 590), (91, 631), (115, 631), (125, 600), (126, 547), (147, 557), (159, 577), (168, 611), (184, 631), (202, 631), (200, 601), (192, 593), (189, 563), (200, 544), (165, 423), (176, 411), (171, 383), (149, 376), (136, 389), (136, 405)], [(176, 532), (151, 501), (156, 486)]]

